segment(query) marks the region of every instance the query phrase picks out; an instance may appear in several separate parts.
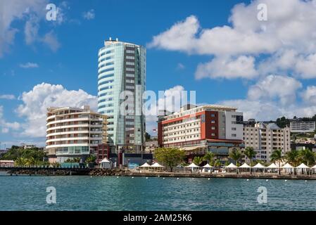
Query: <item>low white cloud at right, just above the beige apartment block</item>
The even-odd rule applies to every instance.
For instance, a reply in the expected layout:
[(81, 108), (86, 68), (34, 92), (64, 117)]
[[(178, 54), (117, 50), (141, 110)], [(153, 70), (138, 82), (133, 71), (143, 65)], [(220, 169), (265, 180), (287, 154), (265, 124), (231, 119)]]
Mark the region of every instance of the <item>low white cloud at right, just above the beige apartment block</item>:
[[(308, 86), (296, 96), (302, 87), (292, 77), (269, 75), (251, 86), (246, 99), (220, 101), (244, 112), (244, 119), (275, 120), (277, 117), (311, 117), (316, 114), (316, 86)], [(300, 97), (303, 101), (296, 101)]]

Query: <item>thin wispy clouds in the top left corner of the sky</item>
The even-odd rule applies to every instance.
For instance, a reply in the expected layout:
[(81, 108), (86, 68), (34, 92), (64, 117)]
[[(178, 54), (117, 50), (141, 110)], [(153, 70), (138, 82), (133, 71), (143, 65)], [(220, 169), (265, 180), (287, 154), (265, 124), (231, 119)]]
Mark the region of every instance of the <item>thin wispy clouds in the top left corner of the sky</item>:
[[(46, 18), (46, 5), (48, 0), (2, 0), (0, 1), (0, 57), (8, 52), (10, 46), (14, 44), (15, 34), (20, 32), (13, 26), (13, 22), (24, 23), (25, 44), (35, 43), (48, 44), (53, 51), (56, 51), (58, 44), (56, 35), (51, 32), (40, 35), (40, 23)], [(66, 1), (61, 2), (57, 9), (56, 21), (51, 21), (52, 25), (64, 23), (65, 12), (69, 9)]]

